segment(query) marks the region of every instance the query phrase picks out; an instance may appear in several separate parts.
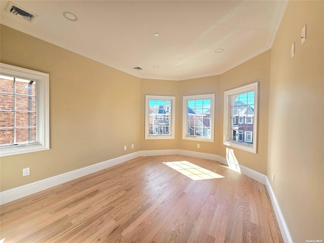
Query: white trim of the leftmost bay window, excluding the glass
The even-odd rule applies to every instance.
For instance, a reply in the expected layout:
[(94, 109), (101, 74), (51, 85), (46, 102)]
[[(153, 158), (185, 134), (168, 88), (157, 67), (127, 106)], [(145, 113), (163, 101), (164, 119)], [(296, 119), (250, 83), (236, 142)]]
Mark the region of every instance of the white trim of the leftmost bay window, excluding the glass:
[[(170, 100), (171, 113), (170, 113), (170, 135), (149, 134), (149, 100)], [(146, 95), (145, 96), (145, 140), (150, 139), (175, 139), (175, 114), (176, 114), (176, 97), (175, 96), (159, 96), (159, 95)], [(155, 132), (155, 131), (154, 131)]]

